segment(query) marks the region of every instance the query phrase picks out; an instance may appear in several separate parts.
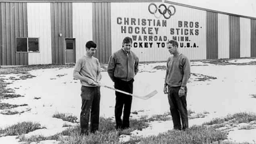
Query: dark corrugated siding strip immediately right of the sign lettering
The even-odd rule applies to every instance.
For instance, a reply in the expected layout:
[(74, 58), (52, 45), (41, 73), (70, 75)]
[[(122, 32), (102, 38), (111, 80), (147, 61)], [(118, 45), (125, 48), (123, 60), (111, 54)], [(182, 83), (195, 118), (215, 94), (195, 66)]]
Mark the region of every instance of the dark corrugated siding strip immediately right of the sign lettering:
[(206, 14), (206, 58), (218, 58), (218, 14), (207, 11)]

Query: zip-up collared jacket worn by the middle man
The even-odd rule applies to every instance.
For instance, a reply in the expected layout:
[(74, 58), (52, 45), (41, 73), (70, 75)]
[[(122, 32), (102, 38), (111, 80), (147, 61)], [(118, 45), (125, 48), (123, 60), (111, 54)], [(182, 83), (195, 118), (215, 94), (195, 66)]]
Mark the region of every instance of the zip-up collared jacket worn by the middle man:
[(127, 55), (120, 49), (109, 57), (107, 71), (113, 82), (115, 79), (130, 81), (138, 73), (138, 57), (132, 51)]

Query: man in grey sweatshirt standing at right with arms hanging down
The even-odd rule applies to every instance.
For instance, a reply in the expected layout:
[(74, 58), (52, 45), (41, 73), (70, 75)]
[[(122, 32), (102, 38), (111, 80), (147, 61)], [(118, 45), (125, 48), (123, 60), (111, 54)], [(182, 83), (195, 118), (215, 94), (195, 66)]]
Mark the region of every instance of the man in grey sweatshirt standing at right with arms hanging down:
[(190, 62), (186, 56), (178, 51), (177, 41), (168, 41), (167, 49), (171, 56), (167, 60), (164, 93), (168, 94), (173, 129), (185, 130), (189, 127), (186, 98)]

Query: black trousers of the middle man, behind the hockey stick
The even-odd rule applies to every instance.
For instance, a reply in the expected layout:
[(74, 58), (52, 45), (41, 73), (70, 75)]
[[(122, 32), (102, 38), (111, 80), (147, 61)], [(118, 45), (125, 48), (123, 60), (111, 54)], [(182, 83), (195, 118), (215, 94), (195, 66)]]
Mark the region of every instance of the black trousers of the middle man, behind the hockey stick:
[[(121, 91), (125, 91), (127, 93), (133, 92), (133, 79), (130, 81), (123, 81), (119, 79), (115, 79), (115, 88)], [(129, 128), (130, 127), (130, 113), (131, 113), (131, 104), (132, 104), (132, 96), (115, 92), (115, 123), (116, 128)], [(124, 116), (123, 121), (121, 119), (122, 112), (124, 107)]]

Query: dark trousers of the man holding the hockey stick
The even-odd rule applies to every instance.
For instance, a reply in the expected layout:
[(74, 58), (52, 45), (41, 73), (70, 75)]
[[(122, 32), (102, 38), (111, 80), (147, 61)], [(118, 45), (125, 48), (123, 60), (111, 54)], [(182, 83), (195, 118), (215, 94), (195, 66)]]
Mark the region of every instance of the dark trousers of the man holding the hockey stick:
[(90, 132), (98, 130), (100, 119), (100, 87), (81, 87), (82, 107), (80, 113), (81, 134), (88, 134), (89, 118), (91, 114)]

